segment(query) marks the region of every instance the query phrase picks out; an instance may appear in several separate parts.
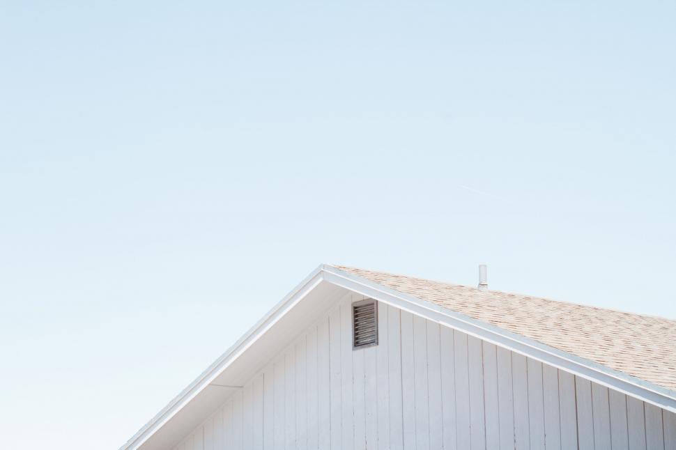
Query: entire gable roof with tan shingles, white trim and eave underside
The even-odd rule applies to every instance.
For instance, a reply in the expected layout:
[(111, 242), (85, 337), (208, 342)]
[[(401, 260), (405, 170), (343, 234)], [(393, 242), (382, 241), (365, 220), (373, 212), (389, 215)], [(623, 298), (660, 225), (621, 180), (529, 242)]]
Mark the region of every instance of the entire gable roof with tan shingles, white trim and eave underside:
[(320, 265), (121, 450), (173, 447), (346, 290), (676, 412), (675, 320)]

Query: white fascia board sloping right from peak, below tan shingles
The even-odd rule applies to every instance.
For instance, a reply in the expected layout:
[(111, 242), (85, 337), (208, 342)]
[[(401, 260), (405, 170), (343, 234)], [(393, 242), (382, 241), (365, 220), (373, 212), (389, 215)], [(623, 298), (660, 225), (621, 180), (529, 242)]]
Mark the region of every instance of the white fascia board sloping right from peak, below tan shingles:
[(387, 288), (368, 279), (344, 272), (337, 267), (325, 265), (324, 279), (332, 284), (353, 290), (380, 302), (390, 304), (393, 307), (403, 309), (417, 316), (422, 316), (433, 322), (458, 329), (484, 341), (489, 341), (508, 348), (540, 362), (555, 366), (574, 375), (599, 383), (610, 389), (615, 389), (629, 396), (659, 406), (665, 410), (676, 412), (676, 392), (626, 373), (615, 371), (601, 364), (589, 361), (564, 352), (556, 348), (546, 346), (534, 339), (521, 334), (509, 332), (506, 329), (496, 327), (489, 323), (470, 318), (456, 311), (440, 307), (431, 302), (425, 302), (417, 297), (401, 293), (398, 290)]

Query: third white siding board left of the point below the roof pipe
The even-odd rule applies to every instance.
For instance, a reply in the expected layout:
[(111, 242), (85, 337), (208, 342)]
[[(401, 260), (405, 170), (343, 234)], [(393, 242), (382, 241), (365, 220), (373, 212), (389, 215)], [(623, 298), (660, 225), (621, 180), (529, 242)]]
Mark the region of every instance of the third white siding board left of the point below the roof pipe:
[(453, 329), (449, 327), (440, 327), (439, 331), (443, 448), (444, 450), (456, 450), (455, 349)]

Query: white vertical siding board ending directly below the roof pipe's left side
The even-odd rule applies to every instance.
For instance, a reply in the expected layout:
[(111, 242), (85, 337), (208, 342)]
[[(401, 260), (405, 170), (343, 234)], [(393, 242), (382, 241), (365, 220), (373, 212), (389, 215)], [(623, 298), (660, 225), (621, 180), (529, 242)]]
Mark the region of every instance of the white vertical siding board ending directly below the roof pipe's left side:
[(470, 448), (485, 450), (484, 362), (480, 339), (474, 336), (467, 337), (467, 357), (470, 386)]

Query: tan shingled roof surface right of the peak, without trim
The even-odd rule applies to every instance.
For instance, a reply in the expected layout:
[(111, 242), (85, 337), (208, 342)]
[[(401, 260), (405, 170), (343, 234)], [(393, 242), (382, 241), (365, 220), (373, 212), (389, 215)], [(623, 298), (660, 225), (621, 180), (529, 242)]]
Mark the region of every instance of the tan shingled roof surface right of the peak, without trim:
[(482, 291), (354, 267), (335, 267), (676, 391), (676, 320), (496, 290)]

